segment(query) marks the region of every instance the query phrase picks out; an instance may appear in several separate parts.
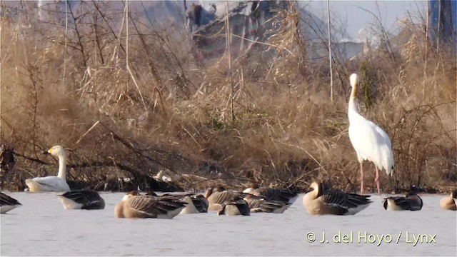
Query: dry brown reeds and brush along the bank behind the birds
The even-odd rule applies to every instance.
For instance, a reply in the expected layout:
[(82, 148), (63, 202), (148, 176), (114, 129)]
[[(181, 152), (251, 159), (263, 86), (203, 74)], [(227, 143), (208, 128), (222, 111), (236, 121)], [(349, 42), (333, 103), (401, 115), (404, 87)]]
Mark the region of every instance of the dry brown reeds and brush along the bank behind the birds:
[[(301, 191), (330, 178), (356, 191), (346, 114), (353, 72), (361, 113), (393, 143), (396, 172), (381, 173), (383, 190), (456, 185), (456, 53), (428, 44), (420, 24), (405, 21), (378, 49), (336, 60), (332, 102), (328, 66), (308, 61), (293, 9), (278, 13), (268, 45), (201, 64), (185, 31), (154, 26), (138, 4), (126, 31), (124, 9), (83, 1), (68, 10), (66, 36), (65, 19), (36, 22), (30, 4), (1, 17), (0, 136), (16, 153), (3, 188), (54, 175), (57, 161), (42, 152), (60, 144), (72, 187), (147, 190), (164, 169), (209, 178), (181, 178), (186, 189), (255, 180)], [(365, 166), (373, 187), (374, 166)]]

